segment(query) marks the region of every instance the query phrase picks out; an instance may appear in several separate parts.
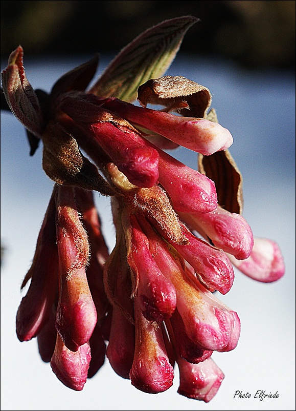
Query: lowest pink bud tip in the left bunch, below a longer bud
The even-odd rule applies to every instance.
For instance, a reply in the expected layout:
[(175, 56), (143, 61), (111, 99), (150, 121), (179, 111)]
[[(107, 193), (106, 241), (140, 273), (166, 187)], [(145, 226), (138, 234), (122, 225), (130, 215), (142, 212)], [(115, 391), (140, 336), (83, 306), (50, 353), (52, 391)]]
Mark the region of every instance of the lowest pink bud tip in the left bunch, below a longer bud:
[(64, 345), (60, 336), (57, 335), (55, 351), (50, 364), (57, 378), (66, 387), (81, 391), (87, 379), (90, 358), (88, 342), (73, 352)]

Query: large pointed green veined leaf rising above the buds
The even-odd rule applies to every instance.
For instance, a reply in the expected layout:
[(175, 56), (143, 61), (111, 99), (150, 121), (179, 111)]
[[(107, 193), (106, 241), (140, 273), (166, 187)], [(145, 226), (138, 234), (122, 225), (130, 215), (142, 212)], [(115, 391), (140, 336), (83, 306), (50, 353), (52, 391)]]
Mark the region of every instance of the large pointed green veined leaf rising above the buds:
[(169, 68), (187, 30), (198, 20), (193, 16), (172, 18), (144, 31), (111, 61), (89, 92), (135, 100), (141, 84), (162, 76)]

